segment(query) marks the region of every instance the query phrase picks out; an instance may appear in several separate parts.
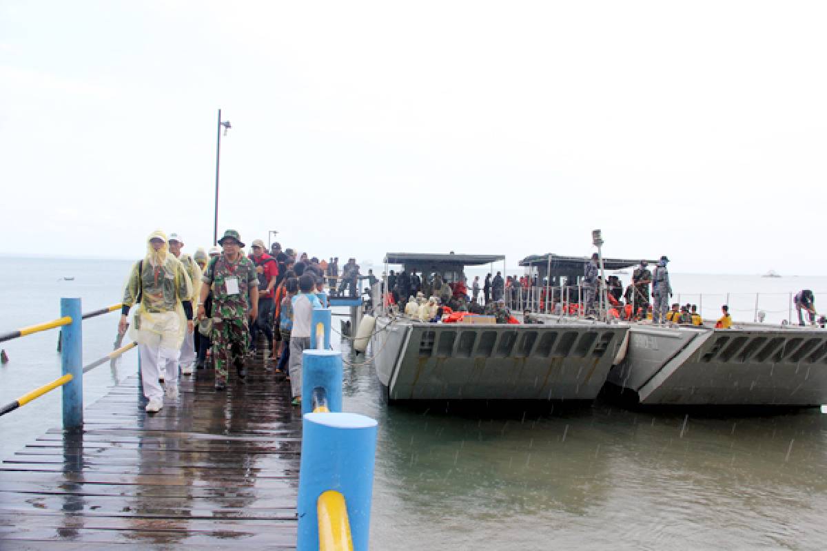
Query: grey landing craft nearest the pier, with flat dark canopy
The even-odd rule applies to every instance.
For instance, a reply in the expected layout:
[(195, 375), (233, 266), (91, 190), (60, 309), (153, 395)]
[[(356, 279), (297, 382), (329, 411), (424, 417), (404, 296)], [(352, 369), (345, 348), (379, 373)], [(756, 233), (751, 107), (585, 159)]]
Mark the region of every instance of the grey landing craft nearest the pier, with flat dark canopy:
[[(501, 255), (388, 253), (424, 277), (453, 283), (466, 266)], [(387, 269), (385, 270), (387, 272)], [(376, 374), (390, 400), (593, 400), (605, 383), (629, 328), (576, 322), (555, 325), (422, 323), (383, 304), (373, 289), (371, 340)]]

